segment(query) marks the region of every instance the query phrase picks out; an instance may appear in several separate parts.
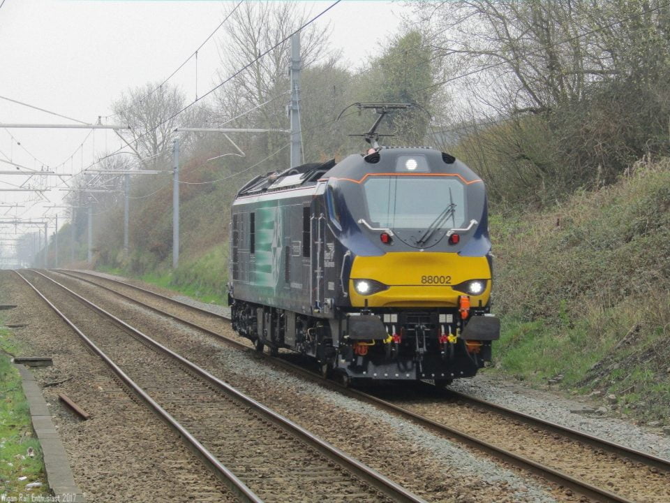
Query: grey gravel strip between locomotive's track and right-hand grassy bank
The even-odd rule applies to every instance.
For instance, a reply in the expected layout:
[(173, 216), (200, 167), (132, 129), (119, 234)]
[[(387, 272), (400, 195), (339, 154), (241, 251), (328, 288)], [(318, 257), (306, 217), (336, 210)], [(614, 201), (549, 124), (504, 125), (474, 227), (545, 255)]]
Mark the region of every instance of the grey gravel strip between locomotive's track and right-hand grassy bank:
[[(553, 421), (632, 449), (670, 459), (669, 437), (657, 435), (621, 419), (593, 417), (573, 412), (581, 411), (587, 406), (583, 401), (569, 400), (553, 393), (505, 383), (500, 378), (487, 374), (479, 374), (473, 379), (456, 380), (450, 387), (455, 391), (490, 400), (546, 421)], [(588, 406), (590, 407), (590, 404)], [(593, 408), (599, 406), (600, 404), (597, 404)]]

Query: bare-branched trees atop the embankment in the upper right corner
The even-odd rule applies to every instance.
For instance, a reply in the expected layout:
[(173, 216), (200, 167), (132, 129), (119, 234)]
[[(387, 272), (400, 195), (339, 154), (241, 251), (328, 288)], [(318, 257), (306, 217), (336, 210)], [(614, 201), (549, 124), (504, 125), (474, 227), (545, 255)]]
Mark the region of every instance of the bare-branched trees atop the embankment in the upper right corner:
[[(645, 154), (668, 152), (670, 7), (662, 0), (420, 3), (435, 50), (459, 71), (456, 115), (490, 131), (486, 166), (521, 198), (611, 182)], [(472, 107), (475, 111), (468, 110)]]

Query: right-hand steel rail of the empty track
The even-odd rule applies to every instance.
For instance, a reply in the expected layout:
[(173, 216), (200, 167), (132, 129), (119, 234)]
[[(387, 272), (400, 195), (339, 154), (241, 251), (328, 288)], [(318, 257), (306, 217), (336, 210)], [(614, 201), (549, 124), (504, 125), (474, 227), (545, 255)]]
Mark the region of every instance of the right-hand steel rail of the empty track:
[[(82, 296), (78, 295), (74, 291), (68, 289), (67, 286), (64, 286), (63, 284), (60, 284), (59, 282), (57, 282), (54, 279), (48, 277), (47, 275), (44, 275), (42, 272), (39, 272), (39, 271), (36, 271), (36, 270), (30, 270), (30, 271), (44, 277), (45, 279), (48, 279), (52, 283), (56, 284), (57, 286), (59, 286), (64, 291), (68, 292), (76, 300), (82, 302), (82, 304), (86, 305), (90, 309), (93, 309), (94, 311), (102, 314), (107, 319), (110, 319), (112, 322), (114, 322), (120, 328), (136, 335), (143, 342), (147, 342), (147, 344), (149, 344), (149, 346), (153, 347), (154, 349), (160, 351), (161, 353), (163, 353), (167, 356), (170, 356), (174, 360), (177, 360), (179, 363), (181, 363), (181, 365), (184, 365), (184, 367), (188, 368), (188, 370), (191, 370), (191, 372), (194, 372), (198, 376), (202, 377), (202, 379), (206, 380), (212, 386), (215, 386), (216, 388), (220, 389), (221, 391), (224, 391), (225, 393), (228, 393), (228, 395), (232, 396), (233, 398), (236, 398), (240, 402), (243, 402), (247, 407), (250, 407), (251, 409), (253, 409), (258, 414), (264, 416), (271, 423), (274, 423), (274, 424), (280, 426), (281, 428), (283, 428), (283, 430), (289, 432), (291, 435), (293, 435), (293, 436), (297, 437), (298, 439), (302, 440), (308, 446), (310, 446), (312, 449), (315, 449), (315, 451), (318, 451), (319, 453), (324, 455), (325, 458), (328, 458), (329, 460), (331, 460), (332, 462), (335, 462), (337, 465), (339, 465), (340, 467), (342, 467), (346, 471), (350, 472), (354, 476), (358, 477), (359, 479), (362, 479), (363, 481), (368, 483), (370, 486), (372, 486), (376, 490), (380, 491), (380, 493), (386, 495), (387, 497), (389, 497), (392, 500), (394, 500), (396, 502), (399, 502), (399, 503), (426, 503), (426, 501), (423, 500), (421, 497), (411, 493), (410, 491), (406, 490), (405, 488), (403, 488), (399, 484), (397, 484), (394, 481), (388, 479), (386, 476), (376, 472), (371, 467), (368, 467), (367, 465), (364, 465), (359, 460), (357, 460), (355, 458), (352, 458), (350, 455), (344, 453), (343, 451), (340, 451), (335, 446), (332, 446), (328, 442), (325, 442), (324, 440), (320, 439), (319, 437), (313, 435), (313, 433), (309, 432), (305, 428), (302, 428), (297, 423), (294, 423), (290, 419), (281, 416), (281, 414), (278, 414), (274, 410), (269, 409), (269, 407), (266, 407), (265, 405), (263, 405), (260, 402), (254, 400), (253, 398), (245, 395), (241, 391), (237, 390), (237, 388), (234, 388), (234, 387), (230, 386), (230, 384), (228, 384), (224, 381), (221, 381), (221, 379), (218, 379), (214, 375), (210, 374), (209, 372), (207, 372), (207, 370), (204, 370), (202, 367), (199, 367), (198, 365), (195, 365), (195, 363), (192, 363), (191, 361), (187, 360), (183, 356), (181, 356), (177, 353), (174, 353), (174, 351), (172, 351), (168, 347), (163, 346), (163, 344), (161, 344), (160, 342), (156, 342), (155, 340), (151, 339), (151, 337), (149, 337), (148, 335), (145, 335), (144, 333), (142, 333), (140, 330), (137, 330), (133, 326), (128, 325), (128, 323), (119, 319), (117, 316), (114, 316), (114, 314), (111, 314), (110, 312), (105, 311), (105, 309), (103, 309), (102, 307), (99, 307), (98, 305), (94, 304), (93, 302), (83, 298)], [(19, 274), (19, 273), (17, 272), (17, 274)], [(96, 285), (96, 286), (101, 286), (101, 285)], [(33, 287), (33, 288), (35, 289), (35, 287)], [(135, 300), (135, 302), (137, 302), (138, 304), (142, 304), (142, 302), (139, 302), (137, 300)], [(51, 303), (50, 303), (50, 305), (53, 307), (53, 305)], [(190, 306), (190, 307), (192, 307), (192, 306)], [(54, 309), (55, 309), (55, 307), (54, 307)], [(64, 316), (61, 316), (61, 317), (64, 317)], [(70, 323), (70, 326), (73, 326), (73, 325)], [(73, 326), (73, 328), (74, 328), (74, 326)], [(77, 333), (80, 333), (80, 332), (77, 330)], [(91, 344), (92, 344), (92, 342), (91, 342)], [(119, 371), (120, 371), (120, 369), (119, 369)], [(167, 412), (165, 414), (167, 414)], [(203, 447), (203, 449), (204, 449), (204, 447)]]

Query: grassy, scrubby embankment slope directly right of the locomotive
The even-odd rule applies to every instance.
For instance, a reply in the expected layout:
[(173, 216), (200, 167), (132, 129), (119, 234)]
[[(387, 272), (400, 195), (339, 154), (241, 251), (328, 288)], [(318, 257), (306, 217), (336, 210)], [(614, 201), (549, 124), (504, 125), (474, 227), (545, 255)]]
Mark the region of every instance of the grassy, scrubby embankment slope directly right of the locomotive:
[(496, 367), (535, 384), (670, 407), (670, 161), (542, 212), (491, 219)]

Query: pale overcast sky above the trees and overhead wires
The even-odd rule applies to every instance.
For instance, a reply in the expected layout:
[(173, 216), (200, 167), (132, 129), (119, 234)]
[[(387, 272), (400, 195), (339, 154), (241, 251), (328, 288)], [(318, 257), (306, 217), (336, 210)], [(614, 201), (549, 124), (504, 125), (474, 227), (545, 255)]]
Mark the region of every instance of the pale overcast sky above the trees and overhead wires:
[[(2, 0), (0, 0), (2, 3)], [(230, 1), (5, 0), (0, 8), (0, 96), (29, 103), (85, 122), (110, 115), (110, 105), (128, 87), (166, 78), (223, 20)], [(313, 15), (332, 1), (301, 2)], [(343, 0), (317, 21), (330, 24), (333, 48), (353, 67), (378, 54), (380, 43), (410, 14), (403, 3)], [(216, 36), (198, 52), (198, 94), (216, 85)], [(190, 61), (170, 80), (195, 98), (195, 65)], [(0, 123), (66, 123), (0, 99)], [(8, 132), (9, 131), (9, 132)], [(77, 150), (87, 130), (0, 129), (0, 160), (55, 168)], [(10, 133), (21, 144), (12, 140)], [(96, 154), (119, 147), (112, 132), (98, 130), (64, 168), (75, 172)], [(25, 150), (27, 149), (30, 154)], [(83, 151), (83, 159), (82, 159)], [(34, 157), (38, 160), (35, 160)], [(0, 170), (13, 169), (0, 163)], [(0, 175), (0, 189), (24, 177)], [(47, 194), (52, 203), (63, 192)], [(35, 199), (27, 193), (0, 191), (0, 204)], [(48, 203), (47, 203), (48, 204)], [(0, 207), (0, 216), (6, 212)], [(13, 215), (15, 210), (9, 214)], [(39, 217), (45, 210), (18, 210)], [(62, 211), (62, 210), (61, 210)]]

